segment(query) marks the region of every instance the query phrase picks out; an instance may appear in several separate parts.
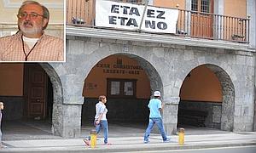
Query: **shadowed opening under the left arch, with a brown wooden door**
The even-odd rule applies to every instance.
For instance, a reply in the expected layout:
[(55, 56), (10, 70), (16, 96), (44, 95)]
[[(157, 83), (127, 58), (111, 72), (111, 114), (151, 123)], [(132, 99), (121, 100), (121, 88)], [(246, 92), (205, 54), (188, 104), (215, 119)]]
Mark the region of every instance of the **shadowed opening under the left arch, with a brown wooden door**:
[[(33, 135), (61, 135), (56, 126), (61, 121), (55, 122), (55, 105), (61, 103), (62, 97), (58, 92), (61, 82), (55, 70), (48, 63), (8, 63), (0, 64), (0, 71), (4, 74), (0, 79), (0, 100), (5, 103), (3, 136), (12, 139), (15, 134), (15, 139), (26, 139), (27, 135), (32, 139)], [(19, 133), (8, 132), (19, 127)]]

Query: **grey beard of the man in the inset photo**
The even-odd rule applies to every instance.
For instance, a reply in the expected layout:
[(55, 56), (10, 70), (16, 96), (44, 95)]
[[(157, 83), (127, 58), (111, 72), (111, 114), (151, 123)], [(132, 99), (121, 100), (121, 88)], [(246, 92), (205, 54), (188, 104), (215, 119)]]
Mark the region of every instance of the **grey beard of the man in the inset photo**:
[[(29, 26), (29, 27), (26, 27)], [(32, 24), (30, 21), (23, 21), (19, 25), (20, 31), (22, 31), (25, 35), (34, 35), (38, 33), (42, 33), (43, 28), (39, 26), (35, 26), (35, 24)]]

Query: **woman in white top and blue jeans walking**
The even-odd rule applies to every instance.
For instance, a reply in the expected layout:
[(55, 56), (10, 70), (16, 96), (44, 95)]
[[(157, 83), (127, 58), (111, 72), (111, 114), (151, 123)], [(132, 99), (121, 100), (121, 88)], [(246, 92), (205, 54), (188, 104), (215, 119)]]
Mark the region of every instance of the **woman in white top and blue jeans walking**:
[[(99, 96), (99, 102), (96, 104), (96, 115), (94, 120), (94, 125), (96, 128), (96, 133), (100, 133), (101, 128), (104, 132), (104, 144), (108, 143), (108, 120), (107, 113), (108, 109), (106, 107), (107, 97), (105, 95)], [(90, 137), (84, 139), (84, 143), (90, 145)]]

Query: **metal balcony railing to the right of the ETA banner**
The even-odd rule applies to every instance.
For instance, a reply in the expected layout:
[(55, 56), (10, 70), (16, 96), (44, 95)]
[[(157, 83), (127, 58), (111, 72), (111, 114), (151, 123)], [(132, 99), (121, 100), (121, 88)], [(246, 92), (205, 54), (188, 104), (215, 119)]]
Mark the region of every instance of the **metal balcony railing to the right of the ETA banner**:
[(249, 42), (249, 19), (179, 9), (177, 35)]

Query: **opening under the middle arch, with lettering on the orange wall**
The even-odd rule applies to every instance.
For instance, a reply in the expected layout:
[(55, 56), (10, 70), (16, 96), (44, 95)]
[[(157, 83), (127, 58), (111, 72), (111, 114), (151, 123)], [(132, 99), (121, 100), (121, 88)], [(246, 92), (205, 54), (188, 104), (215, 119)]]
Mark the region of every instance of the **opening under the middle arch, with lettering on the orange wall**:
[(107, 95), (108, 122), (148, 124), (148, 99), (162, 91), (159, 74), (146, 59), (112, 54), (101, 59), (84, 79), (82, 126), (93, 122), (99, 95)]

